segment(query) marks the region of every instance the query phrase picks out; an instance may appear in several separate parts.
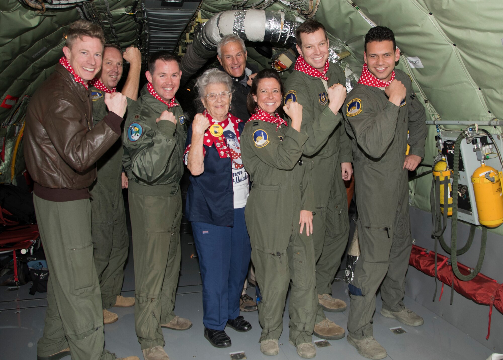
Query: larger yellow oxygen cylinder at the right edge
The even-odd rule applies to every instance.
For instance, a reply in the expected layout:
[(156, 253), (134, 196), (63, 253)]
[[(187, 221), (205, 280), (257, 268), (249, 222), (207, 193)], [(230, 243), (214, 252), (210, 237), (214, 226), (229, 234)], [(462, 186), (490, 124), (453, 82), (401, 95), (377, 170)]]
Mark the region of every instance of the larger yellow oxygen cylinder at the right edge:
[(478, 221), (487, 227), (497, 227), (503, 223), (503, 194), (501, 194), (501, 174), (484, 163), (472, 175), (473, 192), (477, 204)]

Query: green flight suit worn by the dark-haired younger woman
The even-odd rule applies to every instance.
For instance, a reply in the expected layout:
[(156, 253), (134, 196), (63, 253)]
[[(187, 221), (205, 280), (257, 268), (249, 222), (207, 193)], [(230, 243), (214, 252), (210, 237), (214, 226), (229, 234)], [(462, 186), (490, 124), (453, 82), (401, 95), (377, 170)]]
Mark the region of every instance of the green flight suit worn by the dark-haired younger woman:
[[(279, 339), (290, 280), (290, 340), (311, 342), (316, 313), (314, 248), (306, 229), (299, 233), (300, 210), (313, 211), (309, 183), (312, 161), (299, 161), (307, 135), (264, 121), (248, 122), (241, 134), (244, 168), (253, 182), (244, 216), (251, 260), (262, 291), (262, 340)], [(262, 140), (257, 139), (262, 137)]]

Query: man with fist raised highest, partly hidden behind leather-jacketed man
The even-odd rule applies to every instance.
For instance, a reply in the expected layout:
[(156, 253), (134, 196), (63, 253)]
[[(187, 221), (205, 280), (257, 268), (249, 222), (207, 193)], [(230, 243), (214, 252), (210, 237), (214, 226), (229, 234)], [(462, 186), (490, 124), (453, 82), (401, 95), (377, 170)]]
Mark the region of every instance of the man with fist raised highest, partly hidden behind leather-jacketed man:
[[(96, 78), (89, 82), (93, 99), (93, 121), (96, 126), (108, 114), (105, 93), (114, 93), (122, 77), (124, 59), (131, 65), (122, 94), (127, 97), (128, 106), (138, 97), (140, 82), (141, 53), (136, 47), (128, 47), (123, 53), (119, 46), (106, 44), (103, 49), (103, 66)], [(124, 264), (129, 250), (129, 236), (126, 227), (126, 211), (122, 190), (127, 186), (127, 177), (122, 172), (122, 139), (117, 142), (97, 162), (98, 177), (89, 188), (91, 194), (91, 218), (94, 245), (94, 260), (100, 280), (103, 304), (103, 323), (111, 324), (118, 319), (117, 314), (108, 311), (111, 307), (130, 307), (134, 297), (121, 295), (124, 281)]]

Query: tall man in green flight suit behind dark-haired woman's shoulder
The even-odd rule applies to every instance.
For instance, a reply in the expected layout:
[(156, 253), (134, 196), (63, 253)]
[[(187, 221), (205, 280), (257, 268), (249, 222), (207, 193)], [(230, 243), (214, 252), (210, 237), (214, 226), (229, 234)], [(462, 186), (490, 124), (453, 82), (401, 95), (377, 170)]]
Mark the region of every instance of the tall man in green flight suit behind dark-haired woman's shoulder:
[[(328, 61), (328, 38), (325, 28), (315, 20), (308, 20), (297, 28), (297, 50), (300, 56), (288, 77), (285, 103), (298, 101), (303, 106), (302, 131), (309, 135), (303, 157), (314, 162), (312, 181), (316, 202), (313, 218), (313, 242), (316, 257), (316, 291), (318, 310), (314, 335), (322, 339), (337, 340), (345, 335), (344, 329), (328, 320), (323, 310), (340, 312), (346, 303), (334, 299), (331, 283), (341, 265), (349, 237), (349, 218), (346, 187), (353, 173), (351, 142), (342, 124), (339, 110), (344, 100), (328, 101), (328, 89), (337, 87), (346, 97), (343, 70)], [(319, 117), (333, 119), (330, 129), (316, 127)], [(330, 136), (321, 136), (328, 132)], [(341, 172), (340, 172), (341, 171)], [(342, 173), (342, 176), (340, 175)]]

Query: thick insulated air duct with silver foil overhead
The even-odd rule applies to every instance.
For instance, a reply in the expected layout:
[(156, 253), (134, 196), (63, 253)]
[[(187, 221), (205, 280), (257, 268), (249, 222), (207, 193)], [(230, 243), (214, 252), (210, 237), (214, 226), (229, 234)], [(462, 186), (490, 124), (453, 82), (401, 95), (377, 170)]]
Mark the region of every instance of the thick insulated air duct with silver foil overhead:
[(286, 46), (295, 44), (295, 31), (302, 18), (282, 11), (234, 10), (215, 14), (195, 34), (182, 58), (182, 79), (185, 84), (217, 53), (220, 39), (236, 34), (243, 40), (272, 42)]

